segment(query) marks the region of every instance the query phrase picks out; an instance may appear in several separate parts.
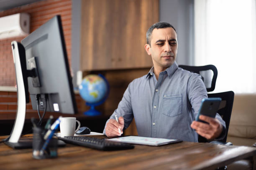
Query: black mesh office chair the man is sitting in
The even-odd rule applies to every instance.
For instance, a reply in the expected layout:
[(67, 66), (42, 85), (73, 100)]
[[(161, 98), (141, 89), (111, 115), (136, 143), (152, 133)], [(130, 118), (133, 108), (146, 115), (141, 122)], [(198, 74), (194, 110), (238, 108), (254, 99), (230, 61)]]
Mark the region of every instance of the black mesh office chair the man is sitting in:
[[(190, 72), (195, 72), (197, 74), (200, 74), (202, 76), (202, 80), (205, 84), (207, 92), (211, 92), (215, 89), (218, 70), (214, 65), (205, 65), (205, 66), (179, 65), (179, 67), (183, 68), (184, 70), (188, 70)], [(213, 143), (226, 144), (230, 117), (231, 117), (233, 101), (234, 101), (234, 92), (228, 91), (228, 92), (220, 92), (220, 93), (210, 93), (208, 94), (208, 97), (220, 97), (222, 99), (218, 113), (226, 123), (226, 135), (224, 139), (213, 141)], [(206, 138), (198, 135), (198, 142), (206, 143), (209, 141)], [(229, 144), (232, 145), (232, 143), (229, 143)]]

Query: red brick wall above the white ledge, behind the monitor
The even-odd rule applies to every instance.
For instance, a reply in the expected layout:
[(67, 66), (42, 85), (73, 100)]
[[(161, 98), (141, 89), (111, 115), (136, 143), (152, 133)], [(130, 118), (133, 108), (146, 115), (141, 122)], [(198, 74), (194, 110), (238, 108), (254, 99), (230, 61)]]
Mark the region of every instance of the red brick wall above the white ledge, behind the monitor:
[[(28, 13), (30, 14), (30, 32), (33, 32), (55, 15), (61, 15), (67, 55), (69, 64), (71, 65), (71, 11), (71, 0), (42, 0), (2, 11), (0, 12), (0, 17), (15, 13)], [(10, 44), (14, 40), (20, 42), (23, 38), (13, 37), (0, 40), (0, 86), (14, 86), (16, 84), (13, 54)]]

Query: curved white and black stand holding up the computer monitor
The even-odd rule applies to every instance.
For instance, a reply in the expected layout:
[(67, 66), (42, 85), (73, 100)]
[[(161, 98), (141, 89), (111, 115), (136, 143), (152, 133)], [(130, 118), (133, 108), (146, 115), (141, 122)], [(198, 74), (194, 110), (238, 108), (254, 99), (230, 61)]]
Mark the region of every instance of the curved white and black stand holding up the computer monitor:
[[(23, 130), (25, 116), (26, 116), (26, 103), (29, 102), (28, 97), (28, 83), (26, 82), (27, 76), (33, 76), (33, 71), (26, 68), (26, 53), (25, 48), (20, 42), (13, 41), (13, 61), (15, 66), (16, 73), (16, 82), (17, 82), (17, 112), (15, 117), (15, 122), (13, 130), (10, 134), (8, 141), (4, 143), (14, 149), (23, 149), (23, 148), (32, 148), (32, 138), (23, 138), (20, 139), (20, 135)], [(39, 80), (38, 80), (39, 81)], [(38, 83), (36, 83), (38, 85)], [(40, 86), (40, 82), (39, 82)], [(61, 140), (58, 140), (58, 146), (65, 146)]]

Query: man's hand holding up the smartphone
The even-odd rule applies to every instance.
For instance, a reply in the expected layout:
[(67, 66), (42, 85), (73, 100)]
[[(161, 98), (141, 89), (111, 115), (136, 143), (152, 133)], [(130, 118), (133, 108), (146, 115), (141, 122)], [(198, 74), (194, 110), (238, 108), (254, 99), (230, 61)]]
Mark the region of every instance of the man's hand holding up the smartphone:
[(193, 121), (191, 123), (191, 128), (195, 129), (199, 135), (205, 137), (208, 140), (212, 140), (220, 136), (223, 130), (223, 126), (218, 119), (205, 115), (200, 115), (199, 119), (209, 123), (207, 124), (198, 121)]

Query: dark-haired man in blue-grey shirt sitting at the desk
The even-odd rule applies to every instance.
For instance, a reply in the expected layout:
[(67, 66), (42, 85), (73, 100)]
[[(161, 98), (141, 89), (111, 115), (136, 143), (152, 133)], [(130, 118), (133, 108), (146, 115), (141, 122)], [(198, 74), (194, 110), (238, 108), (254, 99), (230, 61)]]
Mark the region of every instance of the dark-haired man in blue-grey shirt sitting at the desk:
[(146, 37), (145, 49), (154, 66), (147, 75), (128, 85), (103, 133), (110, 138), (121, 135), (134, 117), (138, 135), (143, 137), (198, 142), (198, 133), (209, 140), (223, 138), (225, 122), (220, 115), (201, 115), (200, 119), (209, 124), (195, 121), (207, 91), (200, 75), (178, 67), (174, 27), (166, 22), (156, 23)]

